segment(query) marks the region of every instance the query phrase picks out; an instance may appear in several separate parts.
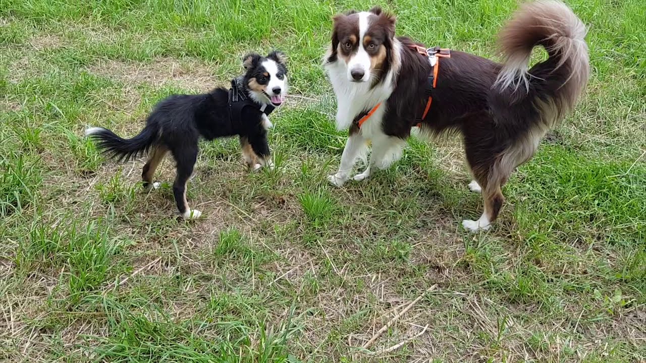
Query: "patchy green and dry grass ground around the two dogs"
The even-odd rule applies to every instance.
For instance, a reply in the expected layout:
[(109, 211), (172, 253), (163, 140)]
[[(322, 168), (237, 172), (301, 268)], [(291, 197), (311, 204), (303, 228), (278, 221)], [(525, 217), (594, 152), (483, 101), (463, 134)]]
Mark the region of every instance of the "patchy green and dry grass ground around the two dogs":
[[(587, 92), (473, 235), (459, 140), (413, 138), (390, 169), (329, 187), (345, 135), (320, 58), (335, 12), (374, 4), (398, 34), (495, 57), (515, 1), (0, 0), (0, 360), (644, 362), (646, 10), (568, 3), (589, 26)], [(170, 161), (146, 194), (142, 160), (82, 137), (134, 134), (159, 99), (271, 48), (291, 82), (277, 168), (203, 143), (201, 220), (174, 216)], [(360, 349), (420, 295), (368, 350), (402, 346)]]

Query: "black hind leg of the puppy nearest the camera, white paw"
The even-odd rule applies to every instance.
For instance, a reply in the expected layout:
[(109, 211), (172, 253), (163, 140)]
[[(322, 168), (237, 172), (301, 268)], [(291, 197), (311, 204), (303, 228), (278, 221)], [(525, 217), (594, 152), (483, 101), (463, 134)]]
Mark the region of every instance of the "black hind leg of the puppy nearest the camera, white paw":
[(199, 218), (202, 212), (197, 209), (190, 209), (189, 202), (186, 200), (186, 187), (189, 179), (193, 175), (193, 168), (198, 156), (198, 147), (197, 145), (181, 147), (172, 150), (172, 154), (177, 162), (177, 174), (175, 176), (175, 182), (172, 184), (172, 194), (175, 197), (177, 209), (182, 218)]

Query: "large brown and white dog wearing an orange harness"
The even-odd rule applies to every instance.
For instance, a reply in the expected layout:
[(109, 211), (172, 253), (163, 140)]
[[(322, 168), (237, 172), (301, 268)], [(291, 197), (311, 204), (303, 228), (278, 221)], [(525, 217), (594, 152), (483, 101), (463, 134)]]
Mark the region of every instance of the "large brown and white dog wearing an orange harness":
[[(546, 132), (574, 108), (589, 78), (586, 29), (567, 5), (554, 0), (528, 3), (499, 34), (504, 63), (451, 50), (439, 59), (432, 106), (420, 131), (429, 136), (459, 132), (482, 192), (479, 220), (464, 220), (470, 231), (489, 229), (505, 201), (501, 186), (530, 160)], [(357, 156), (372, 143), (364, 180), (401, 156), (402, 147), (424, 112), (424, 94), (433, 67), (407, 37), (395, 36), (395, 17), (379, 7), (334, 17), (324, 67), (337, 96), (337, 129), (349, 138), (339, 171), (329, 177), (340, 187)], [(528, 69), (532, 48), (548, 59)], [(379, 107), (376, 107), (380, 105)], [(366, 119), (366, 114), (370, 116)], [(416, 121), (417, 118), (417, 121)], [(359, 126), (359, 119), (362, 124)]]

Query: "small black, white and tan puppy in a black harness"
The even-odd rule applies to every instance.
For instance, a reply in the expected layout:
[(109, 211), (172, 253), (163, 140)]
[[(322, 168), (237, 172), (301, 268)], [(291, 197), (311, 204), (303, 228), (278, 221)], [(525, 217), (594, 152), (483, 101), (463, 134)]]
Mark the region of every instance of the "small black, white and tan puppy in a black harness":
[[(287, 95), (286, 57), (271, 52), (266, 57), (252, 53), (244, 57), (245, 73), (231, 81), (231, 88), (214, 88), (206, 94), (174, 94), (157, 103), (146, 126), (131, 139), (123, 139), (102, 127), (91, 127), (85, 135), (98, 141), (110, 158), (127, 161), (148, 153), (141, 178), (148, 191), (159, 187), (152, 177), (167, 152), (176, 161), (172, 185), (177, 208), (183, 218), (198, 218), (202, 212), (190, 209), (186, 184), (193, 175), (198, 141), (239, 136), (244, 161), (253, 170), (273, 169), (267, 144), (267, 118)], [(256, 158), (258, 163), (256, 163)]]

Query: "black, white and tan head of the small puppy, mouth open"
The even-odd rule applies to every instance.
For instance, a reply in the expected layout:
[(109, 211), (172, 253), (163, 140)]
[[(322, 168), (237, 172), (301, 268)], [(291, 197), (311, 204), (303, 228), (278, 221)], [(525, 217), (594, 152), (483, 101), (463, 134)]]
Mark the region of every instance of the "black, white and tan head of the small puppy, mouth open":
[(242, 65), (249, 96), (258, 103), (280, 106), (287, 96), (287, 65), (282, 52), (273, 51), (263, 57), (247, 54)]

